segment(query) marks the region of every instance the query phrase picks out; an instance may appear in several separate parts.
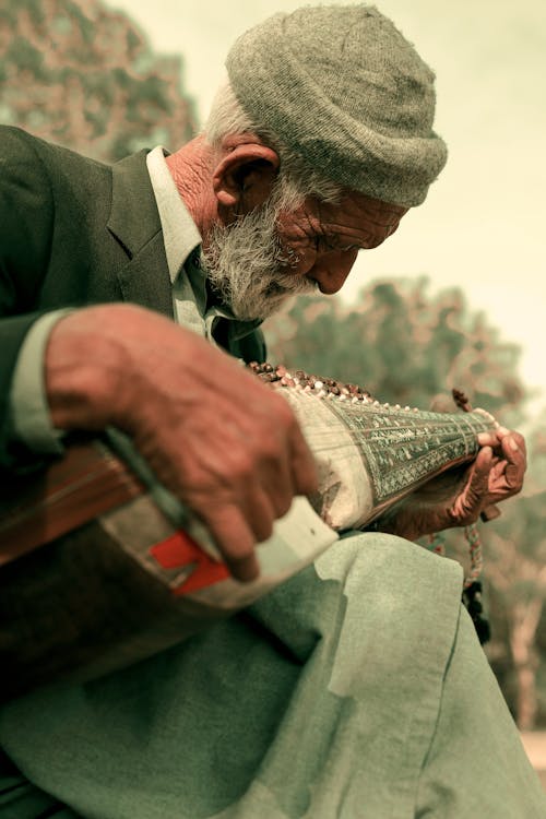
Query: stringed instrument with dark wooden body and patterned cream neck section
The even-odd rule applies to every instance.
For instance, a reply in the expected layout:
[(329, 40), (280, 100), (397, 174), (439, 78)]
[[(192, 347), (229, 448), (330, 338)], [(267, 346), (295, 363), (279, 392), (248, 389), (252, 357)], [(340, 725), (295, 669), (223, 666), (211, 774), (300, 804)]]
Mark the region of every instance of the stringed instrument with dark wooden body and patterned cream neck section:
[[(0, 698), (134, 663), (248, 605), (431, 477), (477, 452), (491, 416), (427, 413), (281, 384), (320, 491), (261, 545), (262, 575), (228, 575), (206, 533), (119, 436), (76, 440), (2, 486)], [(134, 456), (133, 456), (134, 455)], [(166, 502), (167, 501), (167, 502)], [(204, 538), (204, 539), (203, 539)]]

